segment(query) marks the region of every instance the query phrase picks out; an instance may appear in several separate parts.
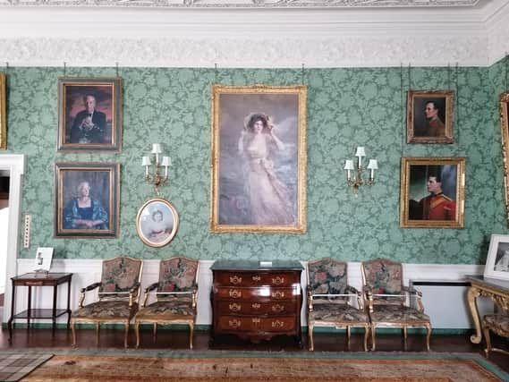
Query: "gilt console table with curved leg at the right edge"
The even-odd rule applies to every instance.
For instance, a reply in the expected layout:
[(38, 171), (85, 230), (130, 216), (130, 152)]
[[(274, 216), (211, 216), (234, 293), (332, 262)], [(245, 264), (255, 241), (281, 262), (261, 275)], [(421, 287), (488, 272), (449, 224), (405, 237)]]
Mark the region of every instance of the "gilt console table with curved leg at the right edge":
[(470, 281), (471, 283), (468, 293), (468, 301), (476, 330), (475, 335), (471, 335), (471, 342), (473, 344), (480, 344), (482, 331), (480, 329), (479, 311), (477, 310), (476, 299), (479, 296), (489, 297), (496, 303), (497, 306), (508, 309), (509, 281), (484, 276), (467, 276), (467, 281)]

